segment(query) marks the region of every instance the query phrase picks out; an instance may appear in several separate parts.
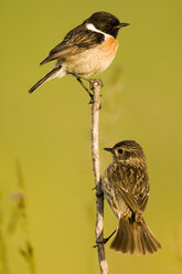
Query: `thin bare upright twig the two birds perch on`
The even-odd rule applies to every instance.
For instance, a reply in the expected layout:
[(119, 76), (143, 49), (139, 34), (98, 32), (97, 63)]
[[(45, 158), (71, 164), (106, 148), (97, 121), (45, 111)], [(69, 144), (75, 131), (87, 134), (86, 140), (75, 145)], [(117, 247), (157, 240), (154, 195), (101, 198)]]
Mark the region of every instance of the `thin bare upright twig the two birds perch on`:
[[(93, 171), (96, 185), (96, 242), (103, 241), (104, 235), (104, 196), (101, 193), (100, 180), (100, 164), (99, 164), (99, 146), (98, 146), (98, 125), (99, 125), (99, 108), (100, 108), (100, 84), (98, 81), (93, 81), (93, 105), (92, 105), (92, 156)], [(104, 244), (97, 244), (98, 262), (101, 274), (108, 274), (108, 264), (106, 261)]]

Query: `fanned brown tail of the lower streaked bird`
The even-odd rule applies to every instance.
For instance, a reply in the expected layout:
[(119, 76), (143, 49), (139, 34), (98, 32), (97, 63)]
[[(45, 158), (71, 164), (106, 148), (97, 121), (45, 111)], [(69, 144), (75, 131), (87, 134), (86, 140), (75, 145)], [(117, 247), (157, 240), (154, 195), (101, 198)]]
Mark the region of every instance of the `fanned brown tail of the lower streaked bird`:
[(110, 247), (122, 253), (144, 255), (161, 249), (161, 244), (141, 219), (140, 222), (119, 220), (119, 226)]

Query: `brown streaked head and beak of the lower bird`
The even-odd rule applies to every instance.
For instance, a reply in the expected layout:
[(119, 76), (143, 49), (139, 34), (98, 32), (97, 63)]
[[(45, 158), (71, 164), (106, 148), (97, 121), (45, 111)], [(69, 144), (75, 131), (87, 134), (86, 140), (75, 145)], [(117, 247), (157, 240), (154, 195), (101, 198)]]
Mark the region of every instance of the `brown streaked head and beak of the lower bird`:
[(113, 148), (104, 148), (114, 155), (115, 160), (142, 160), (146, 161), (142, 147), (135, 140), (122, 140), (117, 143)]

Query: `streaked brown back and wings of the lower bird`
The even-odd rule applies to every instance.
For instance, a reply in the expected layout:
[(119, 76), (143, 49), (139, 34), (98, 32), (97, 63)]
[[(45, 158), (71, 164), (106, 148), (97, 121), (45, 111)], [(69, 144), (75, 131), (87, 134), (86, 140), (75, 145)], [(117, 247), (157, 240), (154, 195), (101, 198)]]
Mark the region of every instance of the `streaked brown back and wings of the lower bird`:
[(142, 213), (147, 205), (150, 189), (147, 168), (114, 162), (108, 169), (107, 176), (130, 210)]

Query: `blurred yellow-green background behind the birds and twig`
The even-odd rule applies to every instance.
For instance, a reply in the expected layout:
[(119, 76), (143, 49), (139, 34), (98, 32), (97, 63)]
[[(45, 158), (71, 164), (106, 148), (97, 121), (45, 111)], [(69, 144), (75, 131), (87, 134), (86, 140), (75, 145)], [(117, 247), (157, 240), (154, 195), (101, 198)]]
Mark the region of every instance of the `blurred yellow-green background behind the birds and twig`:
[[(28, 89), (52, 66), (39, 63), (95, 11), (130, 27), (118, 36), (113, 65), (101, 75), (101, 149), (122, 139), (143, 147), (150, 199), (146, 221), (162, 250), (144, 257), (106, 246), (110, 273), (182, 273), (182, 1), (1, 1), (0, 191), (9, 273), (29, 273), (20, 233), (6, 233), (19, 159), (38, 273), (99, 273), (90, 158), (90, 105), (71, 76)], [(105, 235), (117, 225), (106, 204)]]

